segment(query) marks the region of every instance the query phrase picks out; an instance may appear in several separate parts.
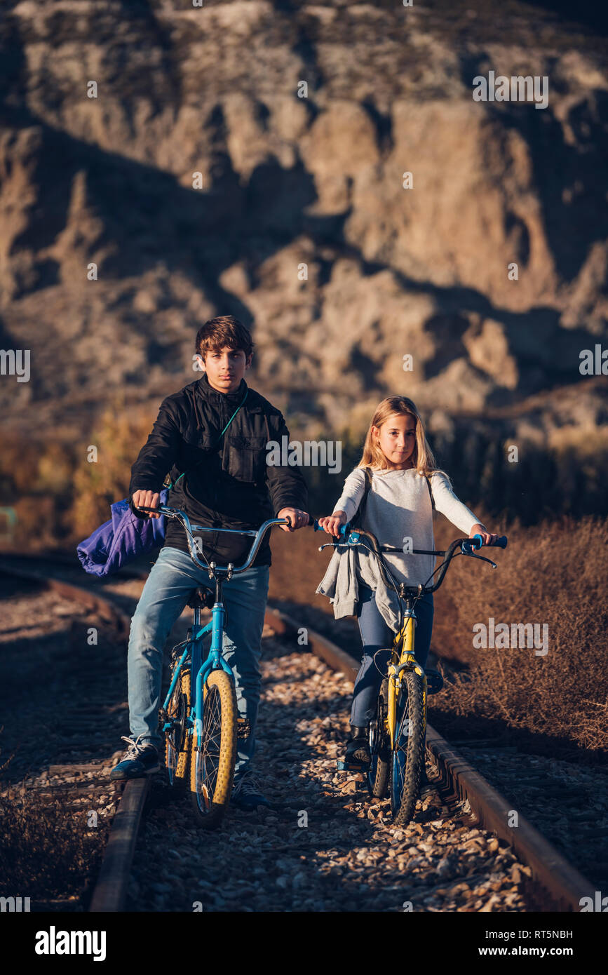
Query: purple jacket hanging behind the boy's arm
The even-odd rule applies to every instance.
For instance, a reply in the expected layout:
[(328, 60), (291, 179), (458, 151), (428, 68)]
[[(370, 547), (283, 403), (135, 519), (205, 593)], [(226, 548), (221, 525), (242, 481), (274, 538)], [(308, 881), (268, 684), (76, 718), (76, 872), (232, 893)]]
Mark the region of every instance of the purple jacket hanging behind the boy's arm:
[[(161, 491), (161, 504), (167, 504), (169, 491)], [(95, 531), (76, 549), (86, 572), (110, 575), (138, 555), (162, 545), (165, 540), (165, 518), (135, 518), (127, 498), (110, 506), (109, 522)]]

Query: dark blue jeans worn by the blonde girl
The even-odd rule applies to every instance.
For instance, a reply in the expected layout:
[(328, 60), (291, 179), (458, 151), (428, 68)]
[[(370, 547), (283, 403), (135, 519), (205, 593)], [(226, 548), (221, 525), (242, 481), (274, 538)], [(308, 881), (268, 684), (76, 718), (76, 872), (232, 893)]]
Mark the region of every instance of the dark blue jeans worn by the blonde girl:
[[(427, 657), (431, 647), (433, 632), (433, 594), (427, 593), (415, 605), (416, 629), (414, 632), (414, 656), (421, 667), (427, 666)], [(355, 681), (353, 691), (353, 707), (351, 709), (351, 724), (364, 727), (376, 713), (376, 699), (380, 691), (380, 684), (387, 676), (391, 651), (387, 647), (393, 645), (394, 631), (385, 622), (384, 616), (376, 606), (373, 589), (359, 583), (359, 603), (357, 604), (357, 619), (363, 643), (361, 668)], [(378, 653), (374, 661), (374, 653)]]

